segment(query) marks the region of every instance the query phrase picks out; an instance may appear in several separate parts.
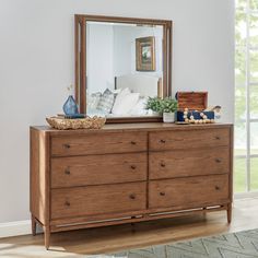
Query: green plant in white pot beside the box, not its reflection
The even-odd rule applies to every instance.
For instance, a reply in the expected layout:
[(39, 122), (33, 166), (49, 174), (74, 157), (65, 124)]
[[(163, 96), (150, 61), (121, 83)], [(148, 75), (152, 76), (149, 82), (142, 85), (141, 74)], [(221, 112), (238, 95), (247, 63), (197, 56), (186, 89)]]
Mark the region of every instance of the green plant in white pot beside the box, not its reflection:
[(161, 99), (161, 108), (163, 113), (164, 122), (174, 122), (175, 121), (175, 112), (177, 110), (177, 101), (172, 97), (165, 97)]

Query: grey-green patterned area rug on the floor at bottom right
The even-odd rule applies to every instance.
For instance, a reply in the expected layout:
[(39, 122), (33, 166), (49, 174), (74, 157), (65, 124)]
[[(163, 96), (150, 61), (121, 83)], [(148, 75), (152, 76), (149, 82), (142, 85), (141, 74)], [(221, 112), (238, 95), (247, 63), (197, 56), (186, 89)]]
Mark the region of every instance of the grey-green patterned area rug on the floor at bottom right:
[(108, 258), (258, 258), (258, 230), (151, 246)]

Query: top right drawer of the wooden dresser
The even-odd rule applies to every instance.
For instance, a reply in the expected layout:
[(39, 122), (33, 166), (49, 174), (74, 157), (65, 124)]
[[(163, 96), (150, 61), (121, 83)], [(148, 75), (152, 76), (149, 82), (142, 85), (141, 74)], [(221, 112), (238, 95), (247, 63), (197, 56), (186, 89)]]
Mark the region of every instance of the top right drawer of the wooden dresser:
[(150, 133), (150, 151), (230, 145), (227, 128)]

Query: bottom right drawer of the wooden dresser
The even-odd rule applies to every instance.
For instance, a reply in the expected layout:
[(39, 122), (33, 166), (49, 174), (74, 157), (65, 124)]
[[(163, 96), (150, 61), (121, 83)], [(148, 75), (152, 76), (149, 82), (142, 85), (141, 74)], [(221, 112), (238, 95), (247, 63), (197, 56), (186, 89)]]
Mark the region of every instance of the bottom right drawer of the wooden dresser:
[(149, 208), (191, 209), (225, 203), (230, 199), (228, 175), (153, 180)]

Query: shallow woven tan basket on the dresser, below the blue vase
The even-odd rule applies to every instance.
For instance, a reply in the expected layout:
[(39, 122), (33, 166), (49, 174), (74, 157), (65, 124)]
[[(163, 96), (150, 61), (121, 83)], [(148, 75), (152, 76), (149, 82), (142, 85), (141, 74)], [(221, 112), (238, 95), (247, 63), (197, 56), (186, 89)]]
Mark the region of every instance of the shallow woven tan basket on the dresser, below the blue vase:
[(105, 117), (86, 117), (79, 119), (64, 119), (60, 117), (47, 117), (47, 122), (58, 130), (77, 130), (77, 129), (101, 129), (105, 122)]

